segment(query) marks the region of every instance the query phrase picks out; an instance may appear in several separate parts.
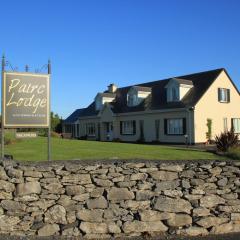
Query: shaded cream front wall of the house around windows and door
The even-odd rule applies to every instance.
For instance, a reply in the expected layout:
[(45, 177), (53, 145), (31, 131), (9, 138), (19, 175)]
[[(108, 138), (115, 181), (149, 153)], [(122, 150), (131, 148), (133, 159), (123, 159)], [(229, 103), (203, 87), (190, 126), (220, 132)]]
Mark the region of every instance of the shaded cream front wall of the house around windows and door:
[[(159, 141), (163, 143), (185, 143), (184, 135), (165, 135), (164, 133), (164, 119), (168, 118), (186, 118), (186, 134), (189, 136), (190, 143), (194, 143), (194, 129), (193, 119), (194, 115), (189, 114), (185, 109), (179, 109), (172, 112), (161, 112), (161, 113), (143, 113), (134, 114), (129, 113), (126, 115), (115, 116), (109, 107), (103, 109), (101, 118), (88, 118), (78, 120), (79, 135), (82, 137), (86, 135), (86, 124), (95, 123), (96, 126), (96, 137), (90, 137), (90, 139), (101, 141), (107, 141), (107, 129), (106, 123), (113, 125), (113, 140), (119, 139), (124, 142), (136, 142), (140, 139), (140, 121), (143, 120), (143, 130), (145, 142)], [(136, 121), (136, 134), (134, 135), (121, 135), (120, 134), (120, 122), (121, 121)], [(156, 139), (156, 127), (155, 121), (159, 120), (159, 139)], [(189, 121), (191, 121), (189, 128)], [(98, 134), (98, 124), (100, 124), (100, 136)]]

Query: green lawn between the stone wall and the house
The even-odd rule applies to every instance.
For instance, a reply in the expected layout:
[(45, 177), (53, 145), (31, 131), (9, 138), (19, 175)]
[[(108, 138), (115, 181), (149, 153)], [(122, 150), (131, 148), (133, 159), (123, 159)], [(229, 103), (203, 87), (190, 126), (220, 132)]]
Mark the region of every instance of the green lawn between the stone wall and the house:
[[(27, 139), (6, 146), (6, 154), (16, 160), (39, 161), (47, 159), (47, 138)], [(52, 138), (52, 159), (219, 159), (203, 151), (161, 145), (80, 141)]]

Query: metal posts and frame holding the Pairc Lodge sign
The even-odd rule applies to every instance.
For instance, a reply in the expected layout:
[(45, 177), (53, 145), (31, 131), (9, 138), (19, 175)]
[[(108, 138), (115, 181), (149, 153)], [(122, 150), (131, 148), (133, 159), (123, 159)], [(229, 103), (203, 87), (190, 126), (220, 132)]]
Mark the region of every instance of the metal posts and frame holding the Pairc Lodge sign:
[[(10, 65), (11, 66), (11, 65)], [(51, 95), (50, 95), (50, 79), (51, 79), (51, 62), (48, 61), (48, 64), (44, 65), (44, 67), (47, 67), (47, 74), (39, 74), (39, 73), (29, 73), (28, 72), (28, 66), (26, 65), (26, 72), (15, 72), (12, 68), (12, 72), (5, 71), (6, 67), (6, 61), (5, 56), (2, 57), (2, 98), (1, 98), (1, 112), (2, 112), (2, 122), (1, 122), (1, 159), (4, 160), (4, 128), (47, 128), (48, 129), (48, 144), (47, 144), (47, 153), (48, 153), (48, 160), (51, 160)], [(6, 81), (6, 74), (18, 74), (18, 75), (28, 75), (28, 76), (45, 76), (47, 77), (47, 83), (48, 83), (48, 89), (47, 89), (47, 123), (46, 125), (36, 125), (36, 124), (19, 124), (19, 125), (8, 125), (5, 124), (5, 81)]]

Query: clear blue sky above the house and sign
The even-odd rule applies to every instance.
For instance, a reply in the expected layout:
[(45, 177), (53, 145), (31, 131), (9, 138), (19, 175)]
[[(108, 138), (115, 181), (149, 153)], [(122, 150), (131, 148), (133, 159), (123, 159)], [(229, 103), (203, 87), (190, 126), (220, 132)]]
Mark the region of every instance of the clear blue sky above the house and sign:
[(63, 118), (120, 87), (225, 67), (240, 87), (239, 0), (1, 1), (0, 52), (19, 70), (52, 61)]

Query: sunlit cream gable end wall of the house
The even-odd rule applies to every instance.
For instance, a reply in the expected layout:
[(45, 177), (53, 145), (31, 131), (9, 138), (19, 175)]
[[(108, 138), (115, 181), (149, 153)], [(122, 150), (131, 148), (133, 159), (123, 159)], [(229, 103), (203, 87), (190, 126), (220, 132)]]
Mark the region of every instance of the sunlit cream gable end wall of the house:
[[(230, 103), (218, 102), (218, 88), (230, 89)], [(196, 142), (206, 141), (207, 118), (212, 119), (213, 137), (224, 131), (223, 118), (227, 118), (228, 128), (230, 128), (231, 118), (240, 118), (239, 104), (240, 96), (223, 71), (195, 106)]]

